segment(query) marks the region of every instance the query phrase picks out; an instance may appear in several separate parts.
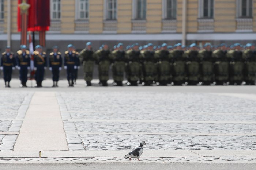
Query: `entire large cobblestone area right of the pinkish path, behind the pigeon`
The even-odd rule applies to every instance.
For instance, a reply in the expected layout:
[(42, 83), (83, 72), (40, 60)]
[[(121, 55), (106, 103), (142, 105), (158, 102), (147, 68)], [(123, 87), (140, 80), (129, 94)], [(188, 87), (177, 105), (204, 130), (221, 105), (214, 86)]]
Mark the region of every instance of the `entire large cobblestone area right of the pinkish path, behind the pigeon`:
[(149, 150), (255, 149), (255, 100), (132, 91), (60, 96), (70, 150), (129, 150), (141, 140)]

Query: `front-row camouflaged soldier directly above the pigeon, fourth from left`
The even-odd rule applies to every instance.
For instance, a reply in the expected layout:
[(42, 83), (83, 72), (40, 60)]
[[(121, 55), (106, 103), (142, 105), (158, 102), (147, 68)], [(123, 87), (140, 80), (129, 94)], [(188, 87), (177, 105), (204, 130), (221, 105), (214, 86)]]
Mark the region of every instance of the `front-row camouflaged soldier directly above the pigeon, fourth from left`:
[(126, 52), (127, 58), (127, 80), (130, 82), (131, 86), (137, 86), (138, 80), (141, 76), (141, 65), (140, 65), (140, 51), (138, 43), (133, 45), (133, 49)]

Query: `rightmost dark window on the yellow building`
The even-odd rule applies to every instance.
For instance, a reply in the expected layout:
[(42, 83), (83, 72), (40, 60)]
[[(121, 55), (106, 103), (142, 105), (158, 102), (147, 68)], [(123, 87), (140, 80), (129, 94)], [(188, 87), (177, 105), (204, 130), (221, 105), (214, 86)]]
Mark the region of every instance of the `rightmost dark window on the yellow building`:
[(252, 17), (252, 0), (237, 0), (237, 17)]

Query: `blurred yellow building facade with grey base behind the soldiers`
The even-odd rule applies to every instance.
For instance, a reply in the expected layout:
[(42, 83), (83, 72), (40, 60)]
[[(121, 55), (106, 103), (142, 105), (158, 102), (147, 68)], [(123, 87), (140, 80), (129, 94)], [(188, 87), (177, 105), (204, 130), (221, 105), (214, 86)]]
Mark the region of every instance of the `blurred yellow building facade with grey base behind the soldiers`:
[[(256, 0), (50, 0), (46, 49), (79, 50), (91, 41), (111, 47), (153, 43), (186, 45), (256, 42)], [(17, 0), (0, 0), (0, 51), (19, 49)], [(37, 37), (36, 37), (37, 38)]]

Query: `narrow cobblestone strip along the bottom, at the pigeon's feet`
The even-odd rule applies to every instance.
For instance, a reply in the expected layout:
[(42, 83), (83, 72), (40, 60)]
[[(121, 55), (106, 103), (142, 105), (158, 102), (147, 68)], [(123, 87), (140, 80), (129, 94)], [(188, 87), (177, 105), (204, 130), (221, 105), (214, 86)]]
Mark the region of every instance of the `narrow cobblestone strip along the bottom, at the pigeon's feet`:
[(256, 163), (256, 157), (140, 157), (141, 161), (123, 157), (84, 158), (1, 158), (0, 163)]

